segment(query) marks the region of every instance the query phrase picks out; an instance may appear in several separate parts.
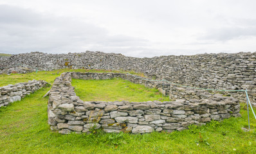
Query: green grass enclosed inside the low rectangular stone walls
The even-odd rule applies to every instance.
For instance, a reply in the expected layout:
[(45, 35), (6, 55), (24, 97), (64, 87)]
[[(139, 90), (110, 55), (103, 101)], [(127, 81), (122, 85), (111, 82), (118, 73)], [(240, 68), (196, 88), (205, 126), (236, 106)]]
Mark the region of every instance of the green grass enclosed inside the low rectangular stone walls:
[(83, 101), (169, 101), (157, 89), (114, 78), (111, 80), (72, 79), (77, 96)]

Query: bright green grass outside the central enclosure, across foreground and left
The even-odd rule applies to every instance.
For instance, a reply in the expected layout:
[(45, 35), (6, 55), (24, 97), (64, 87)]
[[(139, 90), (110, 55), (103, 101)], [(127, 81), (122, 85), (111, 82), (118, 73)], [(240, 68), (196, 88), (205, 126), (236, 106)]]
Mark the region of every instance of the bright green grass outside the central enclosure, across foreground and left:
[[(42, 72), (40, 76), (37, 76), (39, 73), (23, 74), (24, 78), (21, 74), (0, 76), (0, 83), (6, 85), (5, 80), (15, 78), (19, 82), (33, 77), (52, 83), (59, 74), (51, 73), (57, 71)], [(190, 126), (182, 132), (60, 135), (52, 132), (47, 123), (48, 97), (42, 96), (49, 89), (38, 90), (0, 108), (0, 153), (256, 153), (256, 121), (252, 114), (253, 129), (250, 132), (241, 130), (248, 127), (244, 107), (241, 107), (242, 117), (212, 121), (206, 126)]]

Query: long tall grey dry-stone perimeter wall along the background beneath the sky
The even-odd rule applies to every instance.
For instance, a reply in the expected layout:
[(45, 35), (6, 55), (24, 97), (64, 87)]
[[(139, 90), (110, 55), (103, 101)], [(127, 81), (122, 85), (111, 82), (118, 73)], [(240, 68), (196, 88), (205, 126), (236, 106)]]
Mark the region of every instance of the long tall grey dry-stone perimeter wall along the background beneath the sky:
[[(0, 73), (15, 67), (52, 70), (125, 69), (157, 79), (208, 89), (248, 89), (256, 99), (256, 53), (203, 54), (192, 56), (158, 56), (134, 58), (114, 53), (91, 52), (69, 54), (25, 53), (0, 57)], [(12, 68), (12, 69), (10, 69)], [(16, 68), (19, 72), (19, 69)], [(22, 70), (21, 72), (24, 72)], [(244, 98), (244, 97), (243, 97)], [(253, 101), (252, 100), (252, 101)]]

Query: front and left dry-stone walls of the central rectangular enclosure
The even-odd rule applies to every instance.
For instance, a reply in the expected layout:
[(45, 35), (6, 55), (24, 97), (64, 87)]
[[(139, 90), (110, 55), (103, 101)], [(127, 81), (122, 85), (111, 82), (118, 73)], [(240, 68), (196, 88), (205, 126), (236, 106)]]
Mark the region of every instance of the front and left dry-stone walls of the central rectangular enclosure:
[[(90, 74), (90, 75), (89, 75)], [(76, 96), (71, 78), (108, 78), (99, 73), (62, 73), (50, 90), (48, 123), (59, 133), (89, 133), (96, 129), (104, 132), (172, 132), (183, 130), (190, 124), (205, 124), (211, 120), (240, 116), (237, 99), (215, 94), (199, 103), (189, 100), (176, 101), (82, 101)], [(123, 74), (125, 76), (125, 74)], [(121, 76), (121, 75), (120, 75)]]

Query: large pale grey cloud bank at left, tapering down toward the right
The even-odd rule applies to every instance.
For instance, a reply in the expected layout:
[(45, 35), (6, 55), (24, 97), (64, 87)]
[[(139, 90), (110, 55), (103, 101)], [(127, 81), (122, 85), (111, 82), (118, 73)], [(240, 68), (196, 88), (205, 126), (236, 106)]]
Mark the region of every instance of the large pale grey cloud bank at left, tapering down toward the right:
[(75, 18), (41, 15), (8, 5), (0, 5), (0, 34), (1, 53), (68, 53), (96, 48), (102, 51), (147, 46), (149, 42), (125, 35), (111, 36), (104, 28)]

